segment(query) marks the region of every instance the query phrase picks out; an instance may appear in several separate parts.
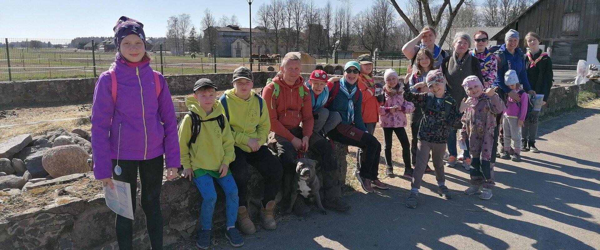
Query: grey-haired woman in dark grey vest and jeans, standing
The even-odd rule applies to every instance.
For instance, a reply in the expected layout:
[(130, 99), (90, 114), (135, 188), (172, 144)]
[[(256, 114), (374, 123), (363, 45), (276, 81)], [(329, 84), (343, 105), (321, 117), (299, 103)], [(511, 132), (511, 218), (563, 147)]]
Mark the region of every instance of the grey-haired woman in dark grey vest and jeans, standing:
[[(471, 47), (471, 37), (464, 33), (459, 32), (454, 35), (454, 41), (452, 41), (452, 46), (454, 47), (454, 52), (451, 56), (444, 58), (442, 62), (442, 72), (448, 80), (447, 90), (452, 98), (456, 101), (461, 101), (463, 98), (466, 98), (466, 93), (464, 92), (463, 80), (467, 76), (477, 76), (481, 82), (483, 82), (483, 75), (481, 74), (481, 68), (479, 68), (479, 59), (475, 58), (469, 53), (469, 47)], [(461, 124), (457, 124), (451, 129), (448, 135), (448, 153), (449, 158), (448, 162), (446, 162), (446, 167), (454, 167), (457, 161), (457, 148), (456, 148), (456, 133), (457, 129), (461, 128)], [(469, 145), (469, 141), (465, 141), (467, 147)], [(463, 152), (463, 165), (464, 168), (469, 170), (470, 168), (470, 158), (469, 149), (467, 148)]]

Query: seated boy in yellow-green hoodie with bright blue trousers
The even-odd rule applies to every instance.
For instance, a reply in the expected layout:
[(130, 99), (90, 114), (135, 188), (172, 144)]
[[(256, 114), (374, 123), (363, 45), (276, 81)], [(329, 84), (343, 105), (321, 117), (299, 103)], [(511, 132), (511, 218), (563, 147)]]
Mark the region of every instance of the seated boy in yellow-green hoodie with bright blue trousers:
[(179, 150), (182, 177), (194, 180), (202, 195), (200, 224), (196, 246), (206, 249), (211, 243), (212, 213), (217, 203), (213, 178), (225, 192), (225, 236), (232, 246), (244, 245), (241, 234), (235, 228), (238, 215), (238, 187), (233, 180), (229, 164), (235, 159), (233, 136), (229, 122), (223, 117), (223, 107), (217, 97), (217, 86), (209, 79), (194, 84), (194, 96), (185, 98), (190, 109), (179, 125)]

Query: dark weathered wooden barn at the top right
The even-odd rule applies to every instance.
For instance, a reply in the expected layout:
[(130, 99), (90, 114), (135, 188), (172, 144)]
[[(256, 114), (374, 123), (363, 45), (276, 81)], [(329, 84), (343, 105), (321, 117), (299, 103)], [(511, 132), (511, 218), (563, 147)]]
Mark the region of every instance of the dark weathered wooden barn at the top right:
[(491, 40), (504, 43), (509, 29), (519, 32), (520, 47), (533, 31), (542, 37), (554, 65), (577, 65), (586, 59), (588, 44), (600, 43), (600, 0), (538, 0)]

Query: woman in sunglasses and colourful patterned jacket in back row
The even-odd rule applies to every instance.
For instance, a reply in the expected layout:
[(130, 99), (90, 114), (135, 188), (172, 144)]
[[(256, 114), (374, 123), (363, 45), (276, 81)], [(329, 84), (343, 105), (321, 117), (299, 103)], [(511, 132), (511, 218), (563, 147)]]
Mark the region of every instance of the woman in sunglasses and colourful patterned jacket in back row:
[(498, 73), (498, 58), (487, 50), (487, 45), (490, 41), (487, 32), (475, 32), (473, 34), (473, 41), (475, 41), (475, 49), (469, 53), (479, 59), (481, 74), (484, 76), (484, 89), (491, 88), (491, 84), (496, 80)]

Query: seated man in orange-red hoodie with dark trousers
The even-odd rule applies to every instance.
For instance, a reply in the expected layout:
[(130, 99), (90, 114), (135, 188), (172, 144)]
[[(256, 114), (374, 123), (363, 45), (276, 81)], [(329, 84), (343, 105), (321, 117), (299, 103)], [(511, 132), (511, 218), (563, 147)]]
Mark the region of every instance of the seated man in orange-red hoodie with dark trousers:
[[(296, 172), (293, 162), (307, 150), (316, 149), (313, 152), (320, 156), (319, 162), (323, 171), (323, 206), (328, 209), (348, 210), (350, 206), (341, 201), (340, 171), (335, 152), (328, 140), (317, 133), (313, 134), (314, 118), (310, 91), (304, 86), (301, 72), (300, 58), (289, 53), (281, 61), (280, 72), (273, 79), (267, 80), (262, 91), (271, 119), (268, 145), (277, 152), (283, 165), (283, 197), (289, 198), (289, 192), (292, 191), (292, 179)], [(310, 212), (302, 197), (296, 199), (293, 210), (299, 216)]]

